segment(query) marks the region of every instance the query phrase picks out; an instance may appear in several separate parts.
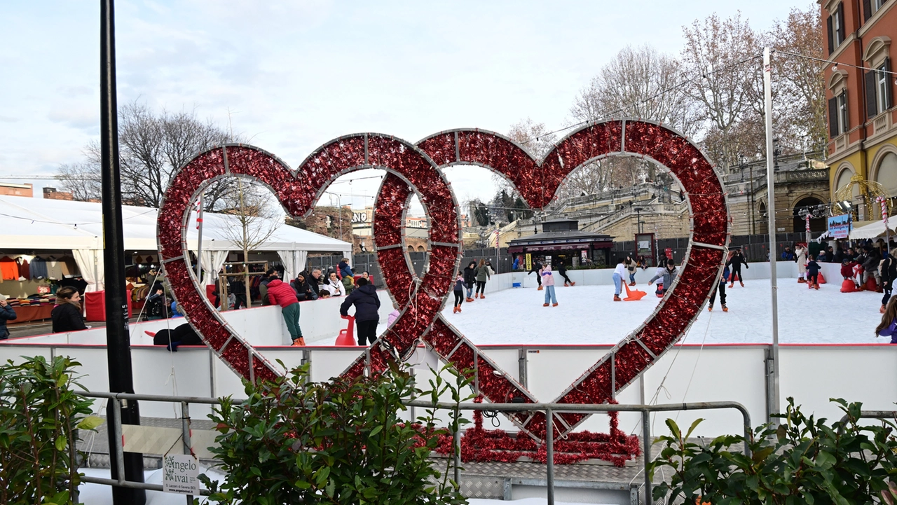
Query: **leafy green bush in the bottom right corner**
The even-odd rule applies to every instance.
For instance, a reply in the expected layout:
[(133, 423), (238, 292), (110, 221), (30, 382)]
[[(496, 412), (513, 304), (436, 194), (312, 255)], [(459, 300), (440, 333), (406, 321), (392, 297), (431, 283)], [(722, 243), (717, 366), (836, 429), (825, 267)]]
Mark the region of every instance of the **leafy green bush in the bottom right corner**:
[(656, 442), (666, 447), (650, 472), (666, 466), (674, 473), (655, 488), (654, 499), (713, 505), (890, 503), (897, 496), (897, 486), (889, 487), (897, 475), (894, 423), (860, 426), (862, 404), (832, 402), (846, 414), (843, 422), (807, 417), (789, 397), (786, 413), (777, 416), (782, 422), (764, 424), (747, 440), (750, 457), (733, 447), (744, 437), (724, 435), (703, 446), (688, 441), (701, 419), (685, 433), (666, 420), (672, 434)]

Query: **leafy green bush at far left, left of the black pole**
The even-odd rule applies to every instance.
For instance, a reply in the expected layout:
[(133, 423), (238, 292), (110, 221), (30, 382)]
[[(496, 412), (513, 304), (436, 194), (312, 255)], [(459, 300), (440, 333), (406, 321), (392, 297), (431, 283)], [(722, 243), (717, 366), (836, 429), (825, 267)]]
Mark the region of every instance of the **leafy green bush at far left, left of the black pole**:
[[(0, 366), (0, 503), (69, 503), (80, 483), (74, 430), (102, 422), (74, 392), (77, 361), (43, 356)], [(82, 387), (83, 389), (83, 387)]]

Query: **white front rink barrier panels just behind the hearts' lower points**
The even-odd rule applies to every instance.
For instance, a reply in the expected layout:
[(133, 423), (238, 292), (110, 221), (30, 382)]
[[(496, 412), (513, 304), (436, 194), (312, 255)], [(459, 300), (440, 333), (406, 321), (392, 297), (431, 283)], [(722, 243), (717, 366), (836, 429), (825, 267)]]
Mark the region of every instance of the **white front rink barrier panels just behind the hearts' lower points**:
[[(17, 339), (22, 340), (22, 339)], [(666, 353), (643, 378), (617, 396), (621, 403), (666, 404), (680, 402), (736, 401), (751, 413), (754, 425), (764, 422), (766, 380), (764, 359), (769, 344), (679, 345)], [(521, 366), (527, 387), (540, 401), (551, 401), (573, 380), (607, 353), (609, 345), (483, 345), (483, 354), (496, 361), (515, 379)], [(311, 379), (323, 381), (338, 375), (361, 352), (357, 347), (259, 347), (269, 360), (283, 361), (287, 368), (299, 366), (305, 358), (311, 365)], [(245, 397), (239, 378), (222, 361), (202, 346), (179, 347), (177, 353), (139, 344), (131, 348), (135, 393), (146, 395)], [(434, 355), (418, 350), (421, 387), (426, 389), (429, 367), (438, 368)], [(48, 359), (66, 355), (82, 364), (79, 382), (91, 391), (108, 391), (106, 349), (96, 344), (10, 343), (0, 345), (0, 359), (19, 361), (20, 356), (43, 355)], [(897, 345), (890, 344), (782, 344), (780, 388), (785, 398), (795, 397), (806, 413), (839, 419), (840, 410), (829, 398), (861, 401), (867, 410), (893, 410), (897, 400)], [(523, 361), (519, 358), (523, 357)], [(869, 370), (875, 370), (870, 375)], [(884, 375), (882, 375), (884, 374)], [(141, 414), (151, 417), (178, 417), (170, 405), (141, 403)], [(207, 407), (194, 415), (208, 414)], [(205, 410), (204, 410), (205, 409)], [(696, 435), (717, 436), (740, 433), (741, 416), (728, 411), (655, 414), (654, 432), (665, 433), (663, 420), (676, 419), (690, 425), (698, 417), (706, 421)], [(638, 414), (620, 414), (621, 428), (638, 431)], [(509, 422), (501, 427), (513, 430)], [(593, 415), (579, 430), (607, 431), (603, 415)]]

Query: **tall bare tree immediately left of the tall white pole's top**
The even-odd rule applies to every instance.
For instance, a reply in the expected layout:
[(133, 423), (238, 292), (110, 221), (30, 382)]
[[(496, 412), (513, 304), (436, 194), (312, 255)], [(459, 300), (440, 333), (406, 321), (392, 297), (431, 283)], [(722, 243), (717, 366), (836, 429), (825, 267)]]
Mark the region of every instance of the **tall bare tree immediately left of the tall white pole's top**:
[(726, 20), (716, 14), (695, 20), (683, 27), (683, 35), (682, 62), (689, 79), (684, 90), (701, 105), (705, 132), (719, 139), (715, 161), (726, 169), (739, 154), (731, 141), (733, 130), (757, 108), (757, 35), (741, 13)]

